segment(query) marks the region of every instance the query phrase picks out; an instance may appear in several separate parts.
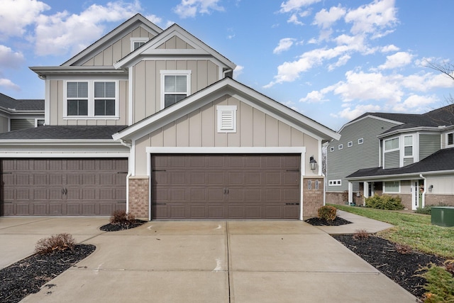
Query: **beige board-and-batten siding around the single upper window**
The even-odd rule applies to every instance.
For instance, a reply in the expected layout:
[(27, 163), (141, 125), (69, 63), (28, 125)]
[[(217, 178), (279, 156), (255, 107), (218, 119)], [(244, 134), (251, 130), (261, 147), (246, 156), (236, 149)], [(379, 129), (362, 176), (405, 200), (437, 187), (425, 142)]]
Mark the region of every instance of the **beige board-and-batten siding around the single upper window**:
[(191, 70), (191, 94), (218, 81), (218, 65), (210, 60), (144, 60), (133, 68), (133, 123), (161, 109), (161, 70)]

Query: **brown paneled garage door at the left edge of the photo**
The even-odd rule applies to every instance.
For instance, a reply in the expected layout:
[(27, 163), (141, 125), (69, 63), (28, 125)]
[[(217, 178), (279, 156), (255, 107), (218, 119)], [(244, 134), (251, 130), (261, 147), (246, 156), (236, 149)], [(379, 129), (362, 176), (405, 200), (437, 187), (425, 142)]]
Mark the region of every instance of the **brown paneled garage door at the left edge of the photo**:
[(13, 215), (111, 215), (126, 209), (128, 159), (2, 159), (0, 209)]

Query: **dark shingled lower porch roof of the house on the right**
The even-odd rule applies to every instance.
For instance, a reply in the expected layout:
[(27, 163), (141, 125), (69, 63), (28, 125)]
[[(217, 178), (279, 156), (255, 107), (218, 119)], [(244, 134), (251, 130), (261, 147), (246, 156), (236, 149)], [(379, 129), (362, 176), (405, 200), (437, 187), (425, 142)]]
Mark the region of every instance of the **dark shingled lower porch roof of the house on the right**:
[(445, 172), (454, 173), (454, 148), (443, 148), (436, 153), (429, 155), (423, 160), (399, 168), (389, 168), (384, 170), (382, 167), (365, 168), (357, 170), (348, 175), (348, 180), (368, 179), (371, 177), (392, 177), (398, 175), (419, 175), (424, 172)]

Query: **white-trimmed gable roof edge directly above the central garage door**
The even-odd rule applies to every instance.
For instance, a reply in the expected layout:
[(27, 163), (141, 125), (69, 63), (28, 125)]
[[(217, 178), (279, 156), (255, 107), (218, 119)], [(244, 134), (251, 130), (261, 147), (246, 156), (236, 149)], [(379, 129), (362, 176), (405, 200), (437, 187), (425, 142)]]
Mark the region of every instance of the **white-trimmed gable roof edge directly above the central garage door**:
[(141, 138), (142, 136), (155, 131), (157, 128), (161, 128), (226, 94), (230, 94), (240, 101), (245, 102), (245, 104), (260, 109), (260, 111), (265, 112), (265, 114), (269, 114), (294, 128), (319, 137), (322, 140), (338, 140), (341, 137), (330, 128), (299, 114), (293, 109), (289, 109), (289, 107), (284, 106), (229, 77), (223, 78), (218, 82), (211, 84), (209, 87), (189, 95), (182, 101), (179, 101), (162, 111), (158, 111), (156, 114), (153, 114), (142, 121), (138, 121), (128, 128), (114, 134), (112, 137), (114, 140)]

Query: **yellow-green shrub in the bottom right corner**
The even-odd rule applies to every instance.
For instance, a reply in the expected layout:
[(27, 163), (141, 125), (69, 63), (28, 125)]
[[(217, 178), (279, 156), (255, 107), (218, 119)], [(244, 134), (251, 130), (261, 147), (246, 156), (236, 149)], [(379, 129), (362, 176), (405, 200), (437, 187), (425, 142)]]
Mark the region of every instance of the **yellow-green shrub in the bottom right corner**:
[(444, 263), (444, 267), (430, 263), (419, 270), (425, 270), (419, 277), (423, 277), (427, 281), (426, 285), (424, 285), (424, 289), (427, 291), (424, 294), (424, 302), (454, 302), (454, 277), (447, 270), (453, 263), (454, 260), (447, 260)]

